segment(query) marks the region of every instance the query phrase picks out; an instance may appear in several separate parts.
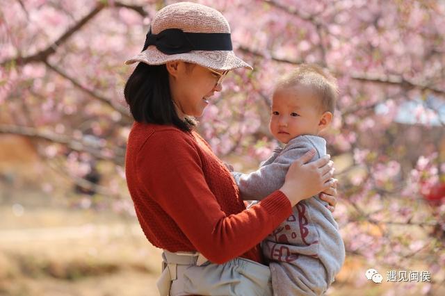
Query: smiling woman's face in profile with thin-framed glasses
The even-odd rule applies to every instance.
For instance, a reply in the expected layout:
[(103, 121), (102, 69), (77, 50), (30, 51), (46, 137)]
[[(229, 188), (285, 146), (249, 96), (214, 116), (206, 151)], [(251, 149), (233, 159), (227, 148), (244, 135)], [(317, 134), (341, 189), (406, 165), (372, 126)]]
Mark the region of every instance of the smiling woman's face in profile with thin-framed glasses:
[(222, 90), (221, 85), (216, 84), (220, 77), (210, 69), (182, 61), (169, 62), (166, 66), (170, 74), (170, 92), (179, 117), (200, 117), (209, 104), (208, 99)]

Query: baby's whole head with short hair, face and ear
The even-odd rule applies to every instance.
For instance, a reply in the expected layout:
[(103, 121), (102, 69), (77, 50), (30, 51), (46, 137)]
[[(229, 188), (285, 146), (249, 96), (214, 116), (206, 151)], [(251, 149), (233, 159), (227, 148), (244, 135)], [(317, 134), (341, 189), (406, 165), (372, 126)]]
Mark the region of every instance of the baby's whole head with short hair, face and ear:
[(337, 96), (332, 75), (316, 65), (299, 65), (275, 86), (270, 132), (283, 143), (298, 135), (318, 135), (332, 121)]

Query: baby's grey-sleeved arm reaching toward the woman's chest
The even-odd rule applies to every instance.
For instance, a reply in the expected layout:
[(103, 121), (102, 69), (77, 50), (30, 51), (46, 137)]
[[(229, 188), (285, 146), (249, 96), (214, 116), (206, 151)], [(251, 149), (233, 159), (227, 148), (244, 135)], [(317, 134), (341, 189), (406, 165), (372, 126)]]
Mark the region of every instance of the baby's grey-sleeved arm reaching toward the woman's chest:
[[(240, 190), (241, 198), (243, 200), (261, 200), (275, 190), (280, 189), (284, 184), (289, 166), (312, 148), (314, 146), (309, 141), (302, 141), (294, 147), (284, 149), (273, 163), (264, 165), (255, 172), (250, 174), (232, 172), (232, 176)], [(312, 161), (317, 158), (318, 156), (314, 156)]]

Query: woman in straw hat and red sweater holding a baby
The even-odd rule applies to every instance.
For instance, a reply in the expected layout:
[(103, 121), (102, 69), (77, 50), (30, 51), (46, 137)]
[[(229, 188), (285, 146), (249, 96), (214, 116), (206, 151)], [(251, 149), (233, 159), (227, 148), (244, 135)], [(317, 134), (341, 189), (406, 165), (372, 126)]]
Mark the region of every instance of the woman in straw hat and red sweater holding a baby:
[[(193, 131), (227, 72), (252, 69), (232, 51), (217, 10), (176, 3), (156, 13), (124, 95), (135, 123), (126, 174), (145, 236), (164, 250), (161, 295), (272, 295), (259, 242), (318, 192), (335, 205), (329, 157), (291, 165), (286, 181), (246, 209), (225, 165)], [(216, 276), (217, 275), (217, 276)]]

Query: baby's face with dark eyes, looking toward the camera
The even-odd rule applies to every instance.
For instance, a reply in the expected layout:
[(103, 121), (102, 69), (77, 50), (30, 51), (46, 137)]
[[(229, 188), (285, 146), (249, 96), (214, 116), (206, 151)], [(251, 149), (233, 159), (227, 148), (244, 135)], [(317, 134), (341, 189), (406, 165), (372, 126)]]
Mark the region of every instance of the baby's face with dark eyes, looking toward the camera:
[(317, 135), (321, 111), (318, 98), (304, 85), (275, 90), (272, 97), (270, 132), (287, 143), (298, 135)]

